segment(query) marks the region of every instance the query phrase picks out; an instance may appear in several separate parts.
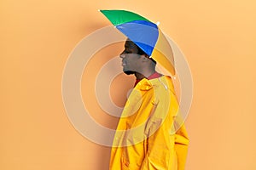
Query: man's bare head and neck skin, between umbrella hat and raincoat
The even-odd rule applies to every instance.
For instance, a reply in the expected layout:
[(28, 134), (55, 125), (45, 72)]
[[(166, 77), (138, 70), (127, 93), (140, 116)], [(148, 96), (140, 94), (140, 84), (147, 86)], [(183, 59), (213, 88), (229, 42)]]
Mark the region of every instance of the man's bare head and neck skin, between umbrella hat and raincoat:
[(155, 72), (155, 63), (147, 54), (137, 54), (138, 48), (134, 42), (127, 39), (125, 49), (120, 54), (123, 71), (127, 75), (134, 74), (137, 79), (147, 78)]

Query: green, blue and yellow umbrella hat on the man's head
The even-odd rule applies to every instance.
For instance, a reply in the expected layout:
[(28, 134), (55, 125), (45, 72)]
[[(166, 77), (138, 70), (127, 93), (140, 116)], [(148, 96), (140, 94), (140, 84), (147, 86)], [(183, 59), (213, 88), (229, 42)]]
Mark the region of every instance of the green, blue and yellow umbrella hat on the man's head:
[(100, 10), (119, 31), (148, 56), (175, 74), (172, 48), (157, 24), (126, 10)]

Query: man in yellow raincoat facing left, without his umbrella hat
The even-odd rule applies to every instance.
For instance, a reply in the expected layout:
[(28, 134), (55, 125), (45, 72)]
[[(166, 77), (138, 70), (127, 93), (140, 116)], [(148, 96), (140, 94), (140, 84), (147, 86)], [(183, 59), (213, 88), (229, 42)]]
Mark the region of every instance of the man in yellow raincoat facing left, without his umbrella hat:
[(109, 169), (183, 170), (189, 139), (171, 77), (155, 71), (154, 59), (130, 39), (120, 58), (137, 81), (119, 119)]

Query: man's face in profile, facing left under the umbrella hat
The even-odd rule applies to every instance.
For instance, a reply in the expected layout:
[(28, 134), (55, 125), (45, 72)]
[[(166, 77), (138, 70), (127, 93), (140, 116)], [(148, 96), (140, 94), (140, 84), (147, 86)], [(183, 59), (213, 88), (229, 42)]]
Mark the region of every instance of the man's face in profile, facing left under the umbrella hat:
[(142, 69), (141, 55), (137, 54), (138, 48), (129, 39), (125, 42), (125, 50), (120, 54), (122, 59), (123, 71), (127, 75), (134, 74)]

